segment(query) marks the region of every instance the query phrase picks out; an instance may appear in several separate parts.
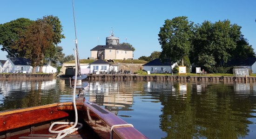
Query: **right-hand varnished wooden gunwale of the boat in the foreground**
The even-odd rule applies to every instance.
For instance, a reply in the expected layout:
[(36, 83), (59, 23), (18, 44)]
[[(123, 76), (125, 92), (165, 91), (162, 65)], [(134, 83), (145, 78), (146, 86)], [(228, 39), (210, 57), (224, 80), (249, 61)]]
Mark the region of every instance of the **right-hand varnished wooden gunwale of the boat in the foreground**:
[[(96, 105), (90, 101), (85, 101), (83, 103), (83, 111), (87, 112), (84, 114), (84, 119), (91, 126), (96, 133), (103, 139), (109, 139), (111, 126), (128, 124), (126, 121), (117, 117), (115, 114), (108, 112), (108, 114), (103, 114), (92, 105)], [(100, 106), (99, 106), (100, 107)], [(116, 127), (113, 128), (113, 139), (148, 139), (145, 135), (140, 133), (134, 127)]]

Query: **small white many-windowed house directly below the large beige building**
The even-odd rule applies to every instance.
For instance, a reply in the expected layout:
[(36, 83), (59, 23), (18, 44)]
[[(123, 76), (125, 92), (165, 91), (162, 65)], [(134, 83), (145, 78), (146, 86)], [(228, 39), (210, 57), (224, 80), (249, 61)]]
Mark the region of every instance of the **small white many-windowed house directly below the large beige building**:
[(90, 63), (90, 73), (94, 72), (96, 74), (100, 74), (100, 73), (110, 73), (112, 71), (117, 72), (118, 71), (117, 66), (111, 66), (110, 63), (102, 59), (99, 59)]

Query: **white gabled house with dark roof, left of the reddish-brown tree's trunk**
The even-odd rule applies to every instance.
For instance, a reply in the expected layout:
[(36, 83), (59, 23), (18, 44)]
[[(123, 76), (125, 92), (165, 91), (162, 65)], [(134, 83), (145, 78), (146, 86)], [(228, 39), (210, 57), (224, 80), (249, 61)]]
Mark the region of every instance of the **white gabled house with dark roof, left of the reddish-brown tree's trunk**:
[(26, 58), (9, 57), (3, 65), (3, 73), (30, 73), (32, 66)]

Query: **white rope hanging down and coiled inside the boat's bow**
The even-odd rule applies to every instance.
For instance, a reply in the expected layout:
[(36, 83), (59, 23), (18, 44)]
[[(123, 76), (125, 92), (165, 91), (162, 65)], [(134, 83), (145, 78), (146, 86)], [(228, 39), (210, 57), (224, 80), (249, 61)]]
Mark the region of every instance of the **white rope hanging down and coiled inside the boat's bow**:
[[(74, 50), (74, 57), (77, 57), (77, 50)], [(75, 58), (75, 79), (74, 79), (74, 91), (73, 91), (73, 103), (74, 103), (74, 111), (75, 111), (75, 122), (54, 122), (50, 128), (49, 128), (49, 132), (50, 133), (58, 133), (57, 137), (55, 139), (62, 139), (64, 138), (65, 136), (67, 136), (67, 134), (71, 134), (79, 129), (82, 128), (82, 124), (81, 123), (78, 123), (78, 116), (77, 116), (77, 109), (76, 109), (76, 104), (75, 104), (75, 90), (76, 90), (76, 81), (77, 81), (77, 69), (78, 69), (78, 64), (77, 64), (77, 58)], [(54, 125), (73, 125), (71, 127), (68, 127), (67, 129), (63, 129), (63, 130), (60, 130), (60, 131), (52, 131), (52, 128)], [(76, 127), (79, 125), (79, 127)], [(64, 134), (63, 134), (64, 133)], [(61, 135), (63, 134), (63, 135)], [(49, 139), (54, 139), (54, 138), (49, 138)]]

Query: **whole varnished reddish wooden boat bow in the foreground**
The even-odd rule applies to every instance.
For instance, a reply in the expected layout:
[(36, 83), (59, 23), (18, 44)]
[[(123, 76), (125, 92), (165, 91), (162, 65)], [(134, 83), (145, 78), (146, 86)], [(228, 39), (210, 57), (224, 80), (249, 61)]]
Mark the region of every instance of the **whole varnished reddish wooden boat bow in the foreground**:
[[(80, 97), (76, 99), (78, 122), (83, 127), (67, 135), (72, 139), (147, 139), (132, 125), (115, 114)], [(73, 102), (62, 102), (44, 106), (0, 112), (0, 139), (48, 139), (57, 134), (48, 129), (54, 121), (74, 121)], [(111, 131), (111, 127), (113, 128)], [(61, 130), (54, 125), (53, 130)], [(112, 137), (111, 136), (112, 132)]]

